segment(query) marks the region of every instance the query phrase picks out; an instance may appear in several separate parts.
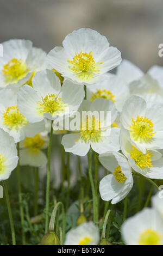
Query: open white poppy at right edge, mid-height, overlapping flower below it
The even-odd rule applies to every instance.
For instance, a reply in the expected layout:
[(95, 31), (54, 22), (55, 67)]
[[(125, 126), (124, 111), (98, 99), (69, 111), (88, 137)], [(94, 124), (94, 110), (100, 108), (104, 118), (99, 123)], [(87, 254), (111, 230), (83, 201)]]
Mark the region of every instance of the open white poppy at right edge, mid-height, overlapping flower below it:
[(123, 106), (121, 122), (143, 154), (147, 149), (163, 148), (163, 104), (147, 105), (141, 97), (131, 96)]

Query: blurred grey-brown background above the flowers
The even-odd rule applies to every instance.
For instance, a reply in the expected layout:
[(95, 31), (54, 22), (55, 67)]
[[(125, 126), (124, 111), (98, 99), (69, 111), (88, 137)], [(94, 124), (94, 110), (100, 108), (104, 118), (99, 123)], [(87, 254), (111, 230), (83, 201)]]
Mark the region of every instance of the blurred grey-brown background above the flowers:
[(162, 11), (162, 0), (0, 0), (0, 42), (30, 39), (48, 52), (73, 30), (90, 27), (147, 71), (163, 64)]

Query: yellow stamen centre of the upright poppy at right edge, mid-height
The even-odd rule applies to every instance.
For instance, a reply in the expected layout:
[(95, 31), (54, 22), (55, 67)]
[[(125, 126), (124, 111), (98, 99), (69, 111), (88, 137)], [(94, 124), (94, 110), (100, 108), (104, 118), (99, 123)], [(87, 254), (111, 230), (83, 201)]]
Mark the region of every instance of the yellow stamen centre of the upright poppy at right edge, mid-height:
[(134, 141), (149, 142), (156, 132), (153, 132), (152, 119), (146, 117), (139, 117), (136, 120), (132, 118), (132, 125), (130, 126), (130, 136)]

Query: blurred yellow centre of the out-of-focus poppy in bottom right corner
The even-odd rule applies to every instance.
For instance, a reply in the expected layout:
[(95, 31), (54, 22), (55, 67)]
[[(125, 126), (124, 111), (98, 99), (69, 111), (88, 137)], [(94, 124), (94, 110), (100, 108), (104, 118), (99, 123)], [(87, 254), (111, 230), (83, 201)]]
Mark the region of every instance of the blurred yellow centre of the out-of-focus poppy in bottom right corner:
[(162, 236), (152, 229), (140, 234), (139, 245), (161, 245)]

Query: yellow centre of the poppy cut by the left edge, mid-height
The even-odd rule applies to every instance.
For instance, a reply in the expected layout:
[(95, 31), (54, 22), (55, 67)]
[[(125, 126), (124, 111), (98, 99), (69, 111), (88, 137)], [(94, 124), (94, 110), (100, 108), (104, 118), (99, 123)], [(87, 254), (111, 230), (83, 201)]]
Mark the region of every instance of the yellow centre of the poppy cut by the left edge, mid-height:
[(17, 106), (11, 106), (5, 109), (3, 112), (3, 124), (8, 126), (10, 130), (18, 130), (25, 126), (28, 121), (18, 110)]

